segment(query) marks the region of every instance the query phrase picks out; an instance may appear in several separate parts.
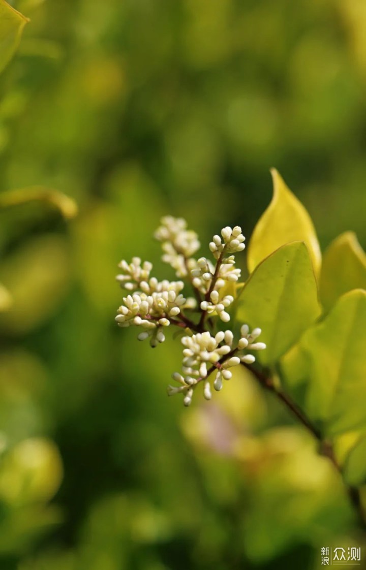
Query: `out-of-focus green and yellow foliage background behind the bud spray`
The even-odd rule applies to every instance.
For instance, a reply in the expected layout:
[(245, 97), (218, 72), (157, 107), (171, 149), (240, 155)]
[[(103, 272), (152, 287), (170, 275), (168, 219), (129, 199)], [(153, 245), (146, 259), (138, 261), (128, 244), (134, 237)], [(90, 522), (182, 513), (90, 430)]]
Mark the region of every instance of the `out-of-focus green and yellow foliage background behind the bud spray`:
[(249, 237), (271, 166), (323, 247), (365, 246), (364, 0), (12, 5), (31, 22), (0, 78), (0, 190), (56, 188), (80, 213), (0, 214), (1, 570), (319, 568), (357, 544), (327, 459), (243, 373), (168, 400), (180, 345), (116, 327), (115, 274), (140, 255), (172, 278), (164, 214), (205, 247)]

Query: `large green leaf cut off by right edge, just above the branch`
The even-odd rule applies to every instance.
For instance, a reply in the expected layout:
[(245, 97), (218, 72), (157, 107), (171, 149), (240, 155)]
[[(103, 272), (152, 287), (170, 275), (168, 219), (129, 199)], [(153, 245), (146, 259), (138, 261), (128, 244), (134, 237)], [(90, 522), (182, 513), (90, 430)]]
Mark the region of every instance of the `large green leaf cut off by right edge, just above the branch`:
[(311, 368), (306, 410), (328, 434), (366, 425), (365, 324), (366, 291), (357, 289), (300, 341)]

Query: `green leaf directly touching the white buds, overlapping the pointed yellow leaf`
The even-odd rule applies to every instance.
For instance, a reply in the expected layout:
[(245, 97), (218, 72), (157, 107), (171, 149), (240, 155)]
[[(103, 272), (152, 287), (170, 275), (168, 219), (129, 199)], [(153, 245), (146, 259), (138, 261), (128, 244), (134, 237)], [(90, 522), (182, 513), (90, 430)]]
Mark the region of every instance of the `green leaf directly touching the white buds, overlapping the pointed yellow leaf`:
[(250, 275), (239, 296), (237, 320), (262, 329), (267, 349), (258, 357), (263, 364), (272, 364), (298, 341), (319, 312), (307, 247), (293, 242), (276, 250)]

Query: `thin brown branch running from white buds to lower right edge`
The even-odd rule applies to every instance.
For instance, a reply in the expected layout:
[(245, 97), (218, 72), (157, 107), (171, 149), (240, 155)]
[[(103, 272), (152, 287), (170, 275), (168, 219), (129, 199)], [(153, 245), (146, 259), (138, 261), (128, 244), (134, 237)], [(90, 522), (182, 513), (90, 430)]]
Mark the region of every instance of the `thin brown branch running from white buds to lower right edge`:
[[(320, 453), (325, 457), (328, 457), (328, 459), (330, 459), (335, 469), (343, 478), (342, 468), (337, 461), (332, 444), (330, 442), (324, 441), (321, 431), (312, 424), (312, 422), (309, 420), (306, 414), (299, 408), (299, 406), (296, 405), (295, 402), (293, 402), (291, 398), (287, 396), (287, 394), (282, 392), (282, 390), (275, 385), (273, 377), (271, 377), (270, 374), (266, 374), (262, 370), (258, 370), (257, 368), (253, 367), (253, 365), (251, 364), (243, 363), (243, 366), (245, 366), (248, 370), (250, 370), (253, 376), (257, 378), (257, 380), (259, 381), (259, 384), (261, 384), (261, 386), (263, 386), (263, 388), (265, 388), (266, 390), (269, 390), (269, 392), (273, 393), (276, 396), (276, 398), (279, 401), (281, 401), (288, 410), (290, 410), (291, 414), (295, 416), (300, 421), (300, 423), (304, 427), (306, 427), (308, 431), (310, 431), (310, 433), (319, 442)], [(352, 485), (348, 485), (347, 483), (345, 483), (344, 480), (343, 483), (345, 486), (345, 490), (347, 491), (348, 498), (356, 512), (360, 527), (366, 530), (366, 514), (363, 504), (361, 502), (360, 490), (358, 487), (353, 487)]]

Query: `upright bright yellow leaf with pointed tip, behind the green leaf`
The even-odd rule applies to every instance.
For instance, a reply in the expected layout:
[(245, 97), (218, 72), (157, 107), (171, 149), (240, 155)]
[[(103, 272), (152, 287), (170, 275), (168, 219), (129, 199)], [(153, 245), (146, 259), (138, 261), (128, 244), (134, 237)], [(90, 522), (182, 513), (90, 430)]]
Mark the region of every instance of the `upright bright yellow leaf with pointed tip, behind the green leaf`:
[(274, 168), (273, 198), (259, 219), (251, 236), (247, 264), (252, 272), (258, 263), (285, 243), (303, 241), (310, 251), (316, 275), (319, 274), (322, 254), (310, 215), (301, 202), (292, 194)]

